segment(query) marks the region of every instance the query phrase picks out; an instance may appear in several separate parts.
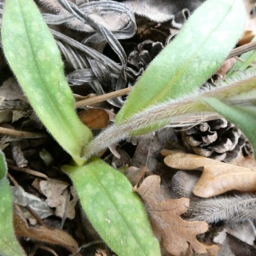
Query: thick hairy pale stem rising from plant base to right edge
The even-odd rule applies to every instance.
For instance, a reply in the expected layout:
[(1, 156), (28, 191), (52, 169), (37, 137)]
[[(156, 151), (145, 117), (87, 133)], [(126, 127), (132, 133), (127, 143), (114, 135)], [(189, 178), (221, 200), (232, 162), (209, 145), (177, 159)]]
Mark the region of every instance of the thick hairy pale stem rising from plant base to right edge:
[[(96, 137), (86, 148), (84, 156), (89, 158), (90, 155), (99, 152), (112, 143), (117, 143), (121, 139), (130, 136), (131, 131), (138, 131), (145, 125), (162, 125), (166, 122), (172, 124), (195, 124), (200, 120), (206, 121), (218, 119), (219, 115), (198, 98), (217, 97), (218, 99), (237, 106), (246, 106), (252, 108), (256, 98), (256, 67), (248, 68), (245, 72), (236, 72), (231, 78), (225, 79), (218, 83), (218, 86), (209, 90), (196, 91), (192, 96), (177, 100), (170, 100), (162, 104), (152, 106), (137, 113), (124, 123), (110, 126)], [(212, 116), (211, 116), (212, 115)]]

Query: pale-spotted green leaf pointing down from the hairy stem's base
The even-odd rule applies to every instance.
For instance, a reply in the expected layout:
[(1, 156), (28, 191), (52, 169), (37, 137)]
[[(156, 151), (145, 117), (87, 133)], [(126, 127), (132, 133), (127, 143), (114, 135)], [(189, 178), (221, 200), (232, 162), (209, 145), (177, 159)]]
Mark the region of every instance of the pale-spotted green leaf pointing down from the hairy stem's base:
[(143, 204), (123, 174), (96, 158), (86, 166), (62, 169), (72, 178), (91, 224), (115, 253), (160, 255)]

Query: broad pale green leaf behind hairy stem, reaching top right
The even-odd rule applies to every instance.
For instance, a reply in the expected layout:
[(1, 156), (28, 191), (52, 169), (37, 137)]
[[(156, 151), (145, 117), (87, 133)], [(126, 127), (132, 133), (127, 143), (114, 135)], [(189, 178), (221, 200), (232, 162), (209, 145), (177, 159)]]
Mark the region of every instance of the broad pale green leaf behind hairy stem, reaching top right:
[[(239, 16), (239, 19), (237, 17)], [(154, 58), (116, 117), (116, 124), (150, 106), (188, 96), (218, 70), (241, 36), (246, 14), (241, 0), (208, 0), (195, 10), (177, 38)], [(154, 125), (132, 135), (155, 130)]]

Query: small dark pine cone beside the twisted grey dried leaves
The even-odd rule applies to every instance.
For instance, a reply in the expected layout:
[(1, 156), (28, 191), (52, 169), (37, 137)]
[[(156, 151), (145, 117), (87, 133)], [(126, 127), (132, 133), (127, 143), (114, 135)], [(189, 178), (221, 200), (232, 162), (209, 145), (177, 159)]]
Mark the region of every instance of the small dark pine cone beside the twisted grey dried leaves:
[(128, 62), (137, 67), (137, 69), (141, 67), (146, 68), (150, 61), (152, 61), (162, 49), (164, 49), (162, 43), (145, 40), (143, 43), (137, 45), (137, 50), (131, 52), (128, 56)]

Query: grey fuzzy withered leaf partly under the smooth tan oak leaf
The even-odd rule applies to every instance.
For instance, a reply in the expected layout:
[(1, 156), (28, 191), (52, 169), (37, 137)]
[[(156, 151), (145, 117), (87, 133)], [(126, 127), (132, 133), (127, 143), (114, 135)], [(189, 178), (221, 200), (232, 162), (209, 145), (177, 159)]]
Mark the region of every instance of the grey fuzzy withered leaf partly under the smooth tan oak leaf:
[(185, 171), (177, 172), (172, 178), (175, 197), (189, 197), (190, 199), (189, 209), (184, 213), (186, 219), (190, 221), (204, 220), (207, 223), (230, 220), (240, 223), (256, 218), (256, 195), (254, 193), (200, 198), (192, 193), (198, 179), (199, 177), (195, 173)]

